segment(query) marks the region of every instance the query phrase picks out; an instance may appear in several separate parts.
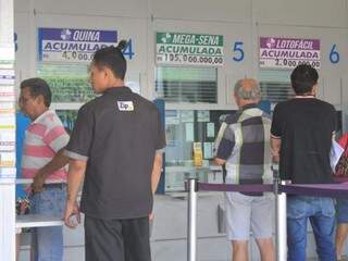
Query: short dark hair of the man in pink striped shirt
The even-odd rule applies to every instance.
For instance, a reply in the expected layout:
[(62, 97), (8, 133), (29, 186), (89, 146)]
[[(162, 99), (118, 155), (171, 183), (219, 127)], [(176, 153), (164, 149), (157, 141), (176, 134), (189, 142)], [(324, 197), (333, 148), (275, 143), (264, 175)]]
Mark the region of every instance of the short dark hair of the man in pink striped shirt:
[(44, 97), (44, 103), (46, 107), (51, 105), (52, 92), (47, 82), (42, 78), (28, 78), (21, 83), (21, 89), (29, 88), (30, 96), (37, 98), (38, 96)]

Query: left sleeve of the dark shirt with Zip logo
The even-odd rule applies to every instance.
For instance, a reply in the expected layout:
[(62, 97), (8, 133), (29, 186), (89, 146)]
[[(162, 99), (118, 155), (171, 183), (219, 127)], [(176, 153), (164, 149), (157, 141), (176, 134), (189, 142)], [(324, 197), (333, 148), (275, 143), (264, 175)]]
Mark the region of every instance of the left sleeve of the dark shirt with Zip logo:
[(74, 160), (87, 161), (94, 138), (94, 115), (83, 107), (79, 109), (75, 126), (65, 149), (65, 156)]

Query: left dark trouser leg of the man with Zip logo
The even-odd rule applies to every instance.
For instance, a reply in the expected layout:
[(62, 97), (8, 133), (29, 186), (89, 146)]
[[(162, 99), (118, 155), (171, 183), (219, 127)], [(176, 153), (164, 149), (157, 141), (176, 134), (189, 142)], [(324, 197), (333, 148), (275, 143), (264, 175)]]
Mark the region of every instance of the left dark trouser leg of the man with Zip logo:
[(125, 261), (120, 220), (100, 220), (85, 215), (86, 261)]

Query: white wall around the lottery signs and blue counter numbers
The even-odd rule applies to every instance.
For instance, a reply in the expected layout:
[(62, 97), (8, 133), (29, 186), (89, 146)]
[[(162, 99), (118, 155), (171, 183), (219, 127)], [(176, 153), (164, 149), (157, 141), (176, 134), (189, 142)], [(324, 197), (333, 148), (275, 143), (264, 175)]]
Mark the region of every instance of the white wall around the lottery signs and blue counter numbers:
[[(139, 77), (141, 92), (154, 98), (154, 34), (158, 30), (217, 34), (224, 36), (225, 64), (219, 69), (219, 103), (204, 109), (235, 109), (231, 88), (237, 78), (258, 76), (259, 36), (321, 39), (323, 99), (340, 109), (347, 69), (347, 0), (16, 0), (20, 77), (34, 76), (37, 61), (37, 27), (116, 29), (132, 38), (136, 57), (128, 74)], [(234, 62), (233, 46), (244, 41), (245, 60)], [(340, 62), (328, 61), (336, 44)], [(169, 104), (177, 108), (178, 104)], [(201, 109), (202, 105), (181, 104)]]

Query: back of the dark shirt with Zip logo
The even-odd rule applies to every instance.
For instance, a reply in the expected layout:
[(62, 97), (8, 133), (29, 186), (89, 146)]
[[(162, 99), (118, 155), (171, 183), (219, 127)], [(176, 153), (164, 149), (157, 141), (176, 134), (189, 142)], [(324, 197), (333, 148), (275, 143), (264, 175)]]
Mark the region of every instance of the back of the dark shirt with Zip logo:
[(87, 103), (82, 113), (88, 115), (87, 125), (92, 129), (92, 138), (86, 138), (90, 144), (86, 145), (89, 156), (82, 210), (103, 219), (149, 214), (153, 159), (156, 150), (165, 145), (156, 105), (119, 87)]

